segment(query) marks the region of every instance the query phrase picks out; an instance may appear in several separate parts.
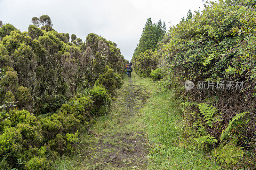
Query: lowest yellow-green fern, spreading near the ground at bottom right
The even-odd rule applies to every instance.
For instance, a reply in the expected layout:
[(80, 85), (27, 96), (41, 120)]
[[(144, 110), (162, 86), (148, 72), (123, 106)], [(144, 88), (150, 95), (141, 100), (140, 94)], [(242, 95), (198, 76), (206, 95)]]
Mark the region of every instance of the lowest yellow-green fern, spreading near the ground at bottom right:
[(221, 148), (212, 149), (212, 155), (221, 163), (237, 164), (239, 157), (244, 155), (243, 147), (236, 146), (237, 138), (232, 139), (227, 145)]

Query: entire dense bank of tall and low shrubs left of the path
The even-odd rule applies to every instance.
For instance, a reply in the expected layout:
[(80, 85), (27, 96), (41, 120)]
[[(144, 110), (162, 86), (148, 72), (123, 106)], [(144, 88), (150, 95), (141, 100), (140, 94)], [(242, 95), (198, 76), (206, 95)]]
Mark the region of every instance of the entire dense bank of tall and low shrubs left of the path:
[[(49, 16), (42, 18), (50, 22)], [(120, 88), (128, 62), (116, 43), (96, 34), (89, 34), (86, 42), (77, 38), (69, 43), (69, 34), (56, 32), (52, 24), (43, 30), (35, 18), (33, 24), (28, 32), (10, 24), (0, 28), (0, 104), (17, 101), (3, 106), (0, 114), (2, 169), (22, 169), (17, 159), (26, 161), (25, 169), (48, 169), (57, 152), (74, 152), (81, 132), (93, 132), (92, 115), (110, 104), (103, 87)], [(100, 68), (93, 67), (95, 62)], [(102, 89), (91, 96), (99, 77)]]

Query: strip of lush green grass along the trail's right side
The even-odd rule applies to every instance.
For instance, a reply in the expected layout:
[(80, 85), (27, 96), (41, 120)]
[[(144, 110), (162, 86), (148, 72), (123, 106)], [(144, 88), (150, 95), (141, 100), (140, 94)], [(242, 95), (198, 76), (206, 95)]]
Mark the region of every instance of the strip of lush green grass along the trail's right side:
[[(221, 169), (209, 154), (179, 147), (183, 131), (179, 99), (172, 90), (164, 90), (145, 78), (138, 85), (151, 90), (151, 98), (143, 108), (149, 137), (149, 169)], [(161, 92), (160, 92), (161, 90)]]

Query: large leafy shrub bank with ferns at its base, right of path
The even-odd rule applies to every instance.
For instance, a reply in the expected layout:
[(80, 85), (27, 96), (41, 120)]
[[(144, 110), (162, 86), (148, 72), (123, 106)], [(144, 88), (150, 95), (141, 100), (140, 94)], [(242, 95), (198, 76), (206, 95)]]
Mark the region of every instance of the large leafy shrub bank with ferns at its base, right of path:
[[(198, 87), (180, 90), (188, 126), (183, 146), (214, 148), (221, 163), (255, 168), (255, 4), (228, 0), (205, 6), (166, 33), (158, 67), (176, 89), (185, 89), (186, 80)], [(206, 83), (202, 88), (201, 82)], [(236, 88), (236, 82), (243, 87)], [(220, 83), (223, 89), (217, 89)]]

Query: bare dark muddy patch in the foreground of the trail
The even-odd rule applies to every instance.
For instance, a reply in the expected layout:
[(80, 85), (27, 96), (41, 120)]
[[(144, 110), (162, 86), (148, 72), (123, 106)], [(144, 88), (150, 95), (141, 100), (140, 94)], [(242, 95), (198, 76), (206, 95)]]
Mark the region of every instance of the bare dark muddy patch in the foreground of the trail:
[[(100, 155), (91, 155), (95, 164), (94, 169), (104, 169), (112, 166), (115, 168), (147, 168), (147, 153), (145, 150), (145, 141), (143, 133), (140, 136), (133, 137), (131, 134), (114, 134), (111, 136), (102, 136), (99, 139), (96, 153)], [(108, 142), (106, 139), (118, 139), (116, 142)]]

